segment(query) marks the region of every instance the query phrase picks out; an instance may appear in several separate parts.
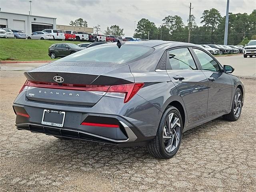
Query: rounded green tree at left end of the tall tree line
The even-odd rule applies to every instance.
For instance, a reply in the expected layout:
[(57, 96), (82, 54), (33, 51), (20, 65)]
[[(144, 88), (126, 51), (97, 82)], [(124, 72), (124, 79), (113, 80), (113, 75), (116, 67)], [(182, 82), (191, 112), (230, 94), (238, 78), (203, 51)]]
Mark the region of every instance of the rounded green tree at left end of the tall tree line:
[(150, 33), (150, 39), (156, 39), (156, 25), (154, 22), (150, 22), (148, 19), (142, 18), (137, 24), (134, 37), (147, 39), (148, 32)]

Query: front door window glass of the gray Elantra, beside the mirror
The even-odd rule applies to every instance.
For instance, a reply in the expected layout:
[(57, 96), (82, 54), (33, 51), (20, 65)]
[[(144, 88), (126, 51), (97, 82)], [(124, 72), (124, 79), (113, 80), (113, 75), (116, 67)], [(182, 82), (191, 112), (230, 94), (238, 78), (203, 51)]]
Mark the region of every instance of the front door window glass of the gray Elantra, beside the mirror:
[(208, 70), (208, 71), (220, 71), (218, 63), (206, 52), (199, 50), (199, 49), (194, 49), (194, 52), (202, 66), (203, 70)]

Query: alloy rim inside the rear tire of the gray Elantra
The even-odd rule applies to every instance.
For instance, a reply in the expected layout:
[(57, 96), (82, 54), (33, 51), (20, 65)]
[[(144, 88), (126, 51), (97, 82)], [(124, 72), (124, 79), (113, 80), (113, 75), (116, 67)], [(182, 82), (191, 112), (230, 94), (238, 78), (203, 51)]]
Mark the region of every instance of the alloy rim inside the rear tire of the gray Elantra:
[(177, 114), (171, 113), (166, 118), (163, 128), (164, 148), (167, 152), (173, 152), (180, 143), (180, 118)]

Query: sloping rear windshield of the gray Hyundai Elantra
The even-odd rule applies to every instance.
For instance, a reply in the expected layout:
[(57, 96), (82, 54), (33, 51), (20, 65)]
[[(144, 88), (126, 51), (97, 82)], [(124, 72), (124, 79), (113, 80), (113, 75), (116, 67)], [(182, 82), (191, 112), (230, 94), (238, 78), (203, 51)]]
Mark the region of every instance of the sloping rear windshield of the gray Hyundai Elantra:
[(154, 48), (138, 45), (98, 45), (60, 59), (61, 62), (115, 62), (127, 63), (151, 54)]

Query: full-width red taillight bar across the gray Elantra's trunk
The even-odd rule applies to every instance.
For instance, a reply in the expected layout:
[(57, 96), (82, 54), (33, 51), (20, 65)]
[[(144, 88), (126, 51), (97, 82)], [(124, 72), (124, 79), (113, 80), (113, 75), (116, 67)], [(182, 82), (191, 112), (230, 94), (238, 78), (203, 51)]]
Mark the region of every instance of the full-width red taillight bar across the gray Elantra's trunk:
[(97, 95), (114, 97), (114, 98), (122, 98), (124, 99), (124, 103), (127, 103), (143, 86), (144, 86), (144, 83), (131, 83), (131, 84), (112, 85), (112, 86), (68, 84), (68, 83), (63, 83), (59, 85), (58, 83), (34, 82), (34, 81), (27, 80), (25, 84), (22, 86), (22, 88), (20, 89), (20, 92), (22, 92), (23, 90), (29, 90), (35, 87), (88, 91)]

